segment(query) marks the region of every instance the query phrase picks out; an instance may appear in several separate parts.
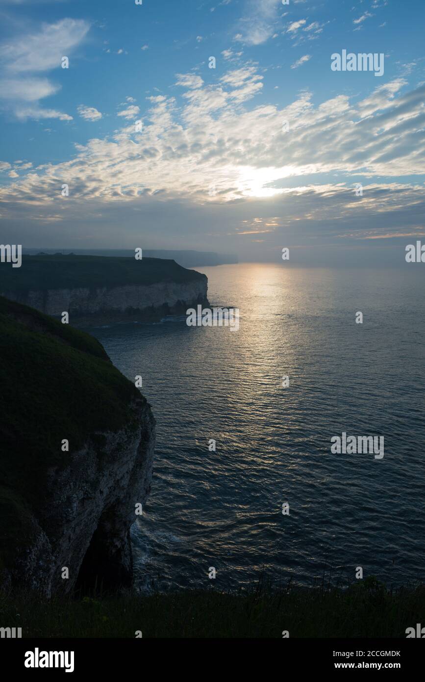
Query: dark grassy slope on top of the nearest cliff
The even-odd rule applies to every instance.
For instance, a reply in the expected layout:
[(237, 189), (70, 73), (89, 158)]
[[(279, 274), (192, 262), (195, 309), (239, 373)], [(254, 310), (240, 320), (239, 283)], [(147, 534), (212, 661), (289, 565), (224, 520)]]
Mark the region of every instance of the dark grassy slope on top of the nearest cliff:
[[(46, 472), (100, 431), (134, 426), (140, 391), (92, 336), (0, 297), (0, 567), (31, 536)], [(99, 448), (101, 452), (101, 448)], [(101, 454), (99, 454), (101, 457)]]

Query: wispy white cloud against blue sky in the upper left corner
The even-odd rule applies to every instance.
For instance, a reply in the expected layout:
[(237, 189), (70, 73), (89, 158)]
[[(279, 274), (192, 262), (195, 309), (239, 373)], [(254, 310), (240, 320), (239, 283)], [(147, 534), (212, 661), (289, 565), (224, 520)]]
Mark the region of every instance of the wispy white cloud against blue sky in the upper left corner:
[[(72, 116), (55, 109), (43, 109), (39, 102), (61, 88), (46, 77), (35, 74), (61, 67), (62, 57), (69, 57), (89, 31), (89, 24), (79, 19), (61, 19), (42, 24), (32, 33), (12, 36), (0, 44), (0, 98), (18, 119), (57, 118), (71, 121)], [(31, 75), (34, 74), (34, 75)], [(27, 106), (33, 102), (33, 106)]]

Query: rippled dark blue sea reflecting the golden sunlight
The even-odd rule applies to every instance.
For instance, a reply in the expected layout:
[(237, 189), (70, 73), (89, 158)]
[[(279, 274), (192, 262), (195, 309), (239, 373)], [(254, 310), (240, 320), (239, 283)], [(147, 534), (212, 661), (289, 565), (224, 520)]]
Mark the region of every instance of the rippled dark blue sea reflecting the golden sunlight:
[[(206, 587), (210, 567), (223, 589), (263, 571), (344, 583), (358, 566), (423, 580), (425, 270), (199, 270), (211, 305), (239, 308), (239, 331), (182, 317), (90, 330), (129, 379), (142, 375), (157, 419), (132, 530), (138, 586)], [(383, 458), (331, 454), (342, 432), (384, 436)]]

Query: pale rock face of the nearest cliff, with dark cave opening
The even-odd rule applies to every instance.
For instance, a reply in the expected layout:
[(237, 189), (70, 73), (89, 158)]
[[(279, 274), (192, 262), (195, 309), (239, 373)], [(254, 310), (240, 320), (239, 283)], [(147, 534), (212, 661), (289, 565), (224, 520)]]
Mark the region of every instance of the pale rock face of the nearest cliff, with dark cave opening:
[[(29, 518), (31, 541), (22, 546), (6, 587), (50, 597), (75, 587), (116, 589), (132, 582), (129, 529), (136, 504), (151, 490), (155, 419), (146, 400), (132, 406), (133, 418), (119, 432), (95, 434), (67, 464), (51, 469), (45, 504)], [(68, 578), (63, 578), (67, 567)]]

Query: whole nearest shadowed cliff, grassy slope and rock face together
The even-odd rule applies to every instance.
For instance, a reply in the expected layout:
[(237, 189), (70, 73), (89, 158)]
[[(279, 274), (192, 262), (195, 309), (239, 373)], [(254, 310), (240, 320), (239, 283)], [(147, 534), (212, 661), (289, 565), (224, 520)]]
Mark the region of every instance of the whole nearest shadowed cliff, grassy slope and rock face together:
[(150, 406), (95, 338), (3, 297), (0, 352), (0, 587), (50, 597), (131, 585)]

